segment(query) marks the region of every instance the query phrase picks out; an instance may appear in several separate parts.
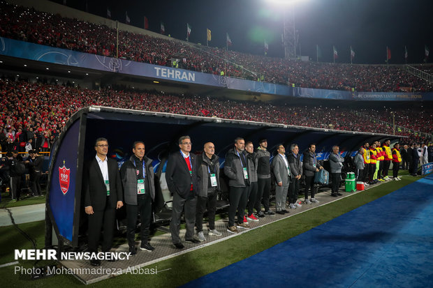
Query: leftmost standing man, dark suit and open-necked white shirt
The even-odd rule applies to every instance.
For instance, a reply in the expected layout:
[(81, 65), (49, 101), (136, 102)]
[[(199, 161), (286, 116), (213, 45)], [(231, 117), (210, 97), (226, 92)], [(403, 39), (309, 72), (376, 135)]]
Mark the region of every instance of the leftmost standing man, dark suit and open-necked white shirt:
[[(96, 139), (96, 156), (85, 165), (83, 187), (85, 212), (89, 215), (89, 249), (98, 252), (99, 237), (103, 226), (102, 251), (108, 252), (112, 245), (116, 209), (123, 206), (122, 182), (116, 160), (107, 157), (108, 141)], [(93, 266), (101, 265), (98, 259), (91, 259)]]

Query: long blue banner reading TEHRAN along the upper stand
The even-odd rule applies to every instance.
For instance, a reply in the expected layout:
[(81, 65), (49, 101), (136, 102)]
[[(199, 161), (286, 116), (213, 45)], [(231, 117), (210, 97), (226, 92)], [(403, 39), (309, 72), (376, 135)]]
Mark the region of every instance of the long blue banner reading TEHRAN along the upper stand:
[(257, 82), (167, 66), (157, 66), (149, 63), (140, 63), (127, 59), (117, 59), (108, 56), (77, 52), (1, 37), (0, 54), (21, 59), (136, 75), (152, 79), (166, 79), (168, 81), (218, 86), (226, 89), (299, 98), (358, 101), (433, 100), (432, 92), (359, 92), (291, 87), (284, 84)]

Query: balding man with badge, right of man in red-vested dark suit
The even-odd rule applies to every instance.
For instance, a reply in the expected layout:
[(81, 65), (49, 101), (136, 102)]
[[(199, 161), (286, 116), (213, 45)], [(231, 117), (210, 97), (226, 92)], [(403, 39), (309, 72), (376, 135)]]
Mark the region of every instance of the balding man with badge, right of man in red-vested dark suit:
[(215, 146), (207, 142), (203, 146), (203, 154), (197, 160), (198, 176), (200, 181), (200, 194), (197, 199), (196, 230), (200, 241), (206, 241), (203, 234), (203, 214), (207, 206), (207, 218), (209, 218), (210, 236), (221, 236), (222, 233), (215, 229), (215, 211), (217, 210), (217, 195), (219, 185), (219, 157), (215, 155)]

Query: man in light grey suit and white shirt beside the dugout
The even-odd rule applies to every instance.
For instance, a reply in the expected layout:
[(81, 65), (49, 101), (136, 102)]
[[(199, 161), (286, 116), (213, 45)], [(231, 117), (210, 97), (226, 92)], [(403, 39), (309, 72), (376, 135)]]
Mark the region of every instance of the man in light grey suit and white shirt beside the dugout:
[(284, 145), (279, 144), (277, 151), (278, 154), (272, 159), (272, 171), (275, 175), (275, 210), (277, 214), (284, 215), (288, 213), (286, 210), (286, 198), (291, 172), (288, 166)]

